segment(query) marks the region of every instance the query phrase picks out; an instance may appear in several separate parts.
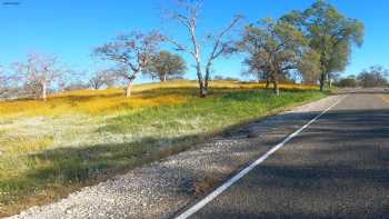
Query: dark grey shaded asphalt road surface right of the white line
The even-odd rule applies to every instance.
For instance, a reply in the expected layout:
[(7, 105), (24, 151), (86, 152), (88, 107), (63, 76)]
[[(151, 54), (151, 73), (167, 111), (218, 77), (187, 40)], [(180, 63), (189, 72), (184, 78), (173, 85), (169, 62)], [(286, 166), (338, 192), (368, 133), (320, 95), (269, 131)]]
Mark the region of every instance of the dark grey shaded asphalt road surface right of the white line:
[(191, 218), (389, 218), (389, 103), (381, 94), (349, 91)]

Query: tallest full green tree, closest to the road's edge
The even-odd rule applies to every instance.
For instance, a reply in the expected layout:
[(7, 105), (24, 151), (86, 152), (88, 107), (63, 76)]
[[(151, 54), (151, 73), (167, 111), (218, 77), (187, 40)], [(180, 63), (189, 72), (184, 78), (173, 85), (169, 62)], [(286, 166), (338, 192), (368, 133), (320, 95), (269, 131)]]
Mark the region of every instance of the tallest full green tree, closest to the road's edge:
[(300, 12), (292, 11), (282, 18), (297, 26), (310, 40), (310, 47), (320, 56), (320, 90), (331, 82), (335, 72), (343, 71), (349, 62), (351, 46), (363, 41), (363, 23), (345, 17), (337, 8), (318, 0)]

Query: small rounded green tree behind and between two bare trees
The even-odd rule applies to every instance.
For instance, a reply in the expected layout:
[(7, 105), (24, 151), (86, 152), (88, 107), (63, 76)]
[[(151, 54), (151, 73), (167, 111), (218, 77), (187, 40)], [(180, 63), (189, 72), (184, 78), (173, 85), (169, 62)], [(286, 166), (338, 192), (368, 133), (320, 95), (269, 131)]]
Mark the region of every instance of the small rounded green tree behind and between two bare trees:
[(179, 54), (163, 50), (151, 58), (148, 73), (164, 82), (168, 78), (183, 76), (186, 70), (187, 63)]

